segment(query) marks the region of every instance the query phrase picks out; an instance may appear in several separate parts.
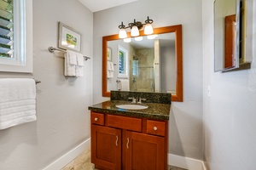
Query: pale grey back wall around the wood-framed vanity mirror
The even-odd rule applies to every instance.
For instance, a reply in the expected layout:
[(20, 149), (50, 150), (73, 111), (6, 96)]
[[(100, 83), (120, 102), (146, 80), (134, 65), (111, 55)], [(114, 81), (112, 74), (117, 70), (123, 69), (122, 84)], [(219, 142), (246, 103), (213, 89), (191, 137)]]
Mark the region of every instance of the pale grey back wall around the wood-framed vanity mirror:
[(183, 102), (172, 102), (169, 153), (202, 160), (201, 0), (140, 0), (94, 13), (93, 103), (102, 97), (102, 37), (117, 34), (121, 21), (154, 20), (154, 27), (183, 25)]

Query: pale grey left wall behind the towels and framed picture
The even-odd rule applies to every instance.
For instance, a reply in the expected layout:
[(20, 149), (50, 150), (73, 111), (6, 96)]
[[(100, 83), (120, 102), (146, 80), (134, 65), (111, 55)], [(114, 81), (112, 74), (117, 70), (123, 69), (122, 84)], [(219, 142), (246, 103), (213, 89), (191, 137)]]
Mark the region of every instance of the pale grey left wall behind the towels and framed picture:
[(57, 24), (82, 32), (82, 53), (92, 57), (93, 14), (73, 0), (33, 0), (33, 73), (0, 72), (3, 77), (33, 77), (37, 85), (37, 122), (0, 131), (0, 169), (43, 169), (90, 138), (92, 59), (84, 77), (63, 76), (64, 59), (50, 54), (57, 46)]

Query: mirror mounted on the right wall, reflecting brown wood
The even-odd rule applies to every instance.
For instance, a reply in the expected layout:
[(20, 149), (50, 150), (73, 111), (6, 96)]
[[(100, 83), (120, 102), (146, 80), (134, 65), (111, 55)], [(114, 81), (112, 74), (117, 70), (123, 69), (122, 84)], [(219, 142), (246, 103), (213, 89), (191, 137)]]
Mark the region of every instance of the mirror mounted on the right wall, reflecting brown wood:
[(243, 0), (214, 0), (214, 71), (239, 67)]

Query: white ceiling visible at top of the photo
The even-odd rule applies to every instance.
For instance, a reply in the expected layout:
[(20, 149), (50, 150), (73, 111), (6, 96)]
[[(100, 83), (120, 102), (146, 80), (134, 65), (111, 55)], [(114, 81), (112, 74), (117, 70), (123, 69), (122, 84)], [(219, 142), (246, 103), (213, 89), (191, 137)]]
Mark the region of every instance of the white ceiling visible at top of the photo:
[(89, 8), (92, 12), (97, 12), (106, 8), (112, 8), (125, 3), (131, 3), (138, 0), (79, 0), (86, 8)]

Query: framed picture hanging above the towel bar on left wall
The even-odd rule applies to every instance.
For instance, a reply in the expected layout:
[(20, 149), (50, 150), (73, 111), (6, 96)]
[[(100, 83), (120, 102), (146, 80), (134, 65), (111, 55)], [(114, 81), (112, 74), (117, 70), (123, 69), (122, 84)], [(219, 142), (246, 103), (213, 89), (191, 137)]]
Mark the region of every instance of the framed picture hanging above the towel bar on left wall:
[(71, 49), (81, 52), (82, 34), (73, 28), (59, 22), (59, 42), (58, 48)]

